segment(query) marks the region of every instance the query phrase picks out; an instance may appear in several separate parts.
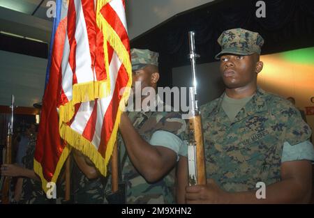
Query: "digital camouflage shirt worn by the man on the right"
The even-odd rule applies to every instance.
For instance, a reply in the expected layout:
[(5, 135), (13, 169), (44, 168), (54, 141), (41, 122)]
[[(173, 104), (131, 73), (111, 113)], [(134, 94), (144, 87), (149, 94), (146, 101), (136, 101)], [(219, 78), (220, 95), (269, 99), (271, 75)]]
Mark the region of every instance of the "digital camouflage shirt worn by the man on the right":
[(261, 88), (231, 123), (221, 107), (224, 95), (201, 107), (207, 178), (228, 192), (278, 182), (283, 143), (306, 141), (310, 127), (290, 102)]

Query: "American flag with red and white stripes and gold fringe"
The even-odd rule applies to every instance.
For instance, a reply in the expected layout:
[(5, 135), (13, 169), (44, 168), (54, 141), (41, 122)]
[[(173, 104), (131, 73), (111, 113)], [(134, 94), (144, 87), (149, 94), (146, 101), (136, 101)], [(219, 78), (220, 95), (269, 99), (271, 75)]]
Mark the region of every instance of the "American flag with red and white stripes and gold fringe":
[(57, 0), (51, 49), (34, 156), (44, 190), (72, 147), (107, 173), (132, 83), (124, 0)]

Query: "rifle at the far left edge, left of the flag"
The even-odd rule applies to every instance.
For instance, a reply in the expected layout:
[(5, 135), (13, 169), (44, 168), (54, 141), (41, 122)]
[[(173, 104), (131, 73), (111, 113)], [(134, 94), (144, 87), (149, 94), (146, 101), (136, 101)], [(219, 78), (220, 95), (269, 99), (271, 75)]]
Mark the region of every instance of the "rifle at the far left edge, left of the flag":
[[(12, 137), (13, 137), (13, 110), (14, 110), (14, 95), (12, 95), (11, 98), (11, 121), (8, 123), (8, 137), (6, 137), (6, 155), (5, 155), (5, 161), (6, 164), (12, 164)], [(1, 202), (4, 204), (10, 203), (11, 200), (11, 178), (10, 176), (5, 176), (2, 190), (1, 190)]]

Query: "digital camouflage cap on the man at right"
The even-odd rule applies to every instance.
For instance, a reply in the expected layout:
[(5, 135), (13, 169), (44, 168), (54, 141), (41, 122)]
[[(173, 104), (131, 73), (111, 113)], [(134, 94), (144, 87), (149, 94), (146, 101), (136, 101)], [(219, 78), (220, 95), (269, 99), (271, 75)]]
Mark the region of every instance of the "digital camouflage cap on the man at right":
[(259, 33), (241, 28), (223, 31), (217, 41), (222, 49), (215, 56), (215, 59), (218, 60), (223, 54), (260, 54), (261, 47), (264, 44), (264, 40)]

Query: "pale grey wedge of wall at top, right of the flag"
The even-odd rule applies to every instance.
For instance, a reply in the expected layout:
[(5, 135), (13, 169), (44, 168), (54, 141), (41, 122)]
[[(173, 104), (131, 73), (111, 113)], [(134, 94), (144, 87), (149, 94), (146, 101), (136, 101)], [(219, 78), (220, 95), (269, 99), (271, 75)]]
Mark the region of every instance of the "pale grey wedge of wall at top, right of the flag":
[(128, 36), (131, 40), (177, 13), (211, 1), (214, 0), (128, 0)]

